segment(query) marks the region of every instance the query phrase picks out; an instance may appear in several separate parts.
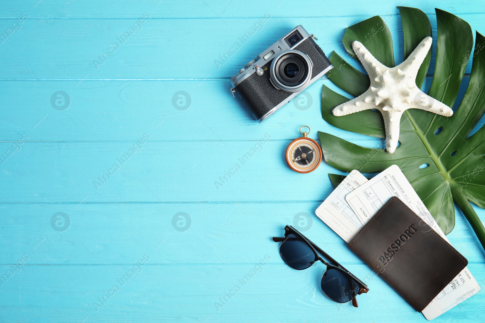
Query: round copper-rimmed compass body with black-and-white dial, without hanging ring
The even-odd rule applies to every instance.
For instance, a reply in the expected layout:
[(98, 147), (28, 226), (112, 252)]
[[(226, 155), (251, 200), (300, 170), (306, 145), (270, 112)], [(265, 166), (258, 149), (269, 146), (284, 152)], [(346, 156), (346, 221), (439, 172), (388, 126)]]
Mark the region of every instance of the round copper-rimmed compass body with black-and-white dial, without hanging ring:
[(308, 173), (320, 165), (322, 151), (314, 140), (302, 137), (293, 140), (288, 146), (286, 160), (294, 171)]

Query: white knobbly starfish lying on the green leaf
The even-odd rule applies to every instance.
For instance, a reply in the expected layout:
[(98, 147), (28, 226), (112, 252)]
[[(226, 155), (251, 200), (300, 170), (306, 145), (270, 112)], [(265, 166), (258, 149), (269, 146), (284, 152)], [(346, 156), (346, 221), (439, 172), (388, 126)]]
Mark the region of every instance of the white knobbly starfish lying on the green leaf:
[(424, 38), (411, 55), (396, 67), (389, 68), (377, 61), (360, 42), (352, 48), (371, 78), (371, 87), (353, 100), (333, 109), (335, 116), (343, 116), (368, 109), (378, 109), (386, 128), (386, 150), (392, 154), (399, 139), (401, 115), (410, 108), (430, 111), (449, 117), (453, 110), (428, 96), (416, 86), (416, 75), (423, 62), (432, 38)]

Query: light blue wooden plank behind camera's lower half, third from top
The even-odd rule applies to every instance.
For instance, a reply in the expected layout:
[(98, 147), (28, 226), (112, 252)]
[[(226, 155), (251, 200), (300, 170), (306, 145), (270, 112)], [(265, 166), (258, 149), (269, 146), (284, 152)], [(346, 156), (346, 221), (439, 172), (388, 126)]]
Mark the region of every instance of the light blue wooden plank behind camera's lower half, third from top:
[[(466, 91), (465, 77), (457, 104)], [(0, 138), (16, 142), (23, 135), (28, 141), (43, 142), (133, 142), (144, 133), (151, 141), (254, 141), (269, 134), (273, 140), (289, 140), (300, 136), (298, 129), (307, 124), (310, 137), (324, 131), (347, 140), (370, 140), (364, 145), (380, 146), (378, 139), (343, 131), (324, 122), (321, 117), (321, 85), (343, 95), (329, 80), (320, 80), (259, 124), (229, 92), (229, 82), (200, 81), (3, 81), (0, 83), (2, 118)], [(424, 88), (431, 84), (428, 77)], [(64, 91), (70, 101), (65, 110), (57, 110), (51, 98)], [(174, 104), (179, 91), (188, 96)], [(29, 95), (23, 95), (28, 92)], [(182, 94), (187, 95), (187, 94)], [(183, 99), (183, 98), (182, 98)], [(190, 101), (190, 105), (189, 105)], [(59, 101), (64, 104), (66, 101)], [(187, 108), (188, 107), (188, 108)], [(185, 110), (184, 110), (185, 109)], [(477, 129), (485, 122), (477, 124)], [(55, 129), (55, 131), (52, 131)], [(1, 147), (7, 147), (5, 144)], [(250, 145), (248, 143), (248, 145)], [(3, 152), (1, 153), (3, 154)]]

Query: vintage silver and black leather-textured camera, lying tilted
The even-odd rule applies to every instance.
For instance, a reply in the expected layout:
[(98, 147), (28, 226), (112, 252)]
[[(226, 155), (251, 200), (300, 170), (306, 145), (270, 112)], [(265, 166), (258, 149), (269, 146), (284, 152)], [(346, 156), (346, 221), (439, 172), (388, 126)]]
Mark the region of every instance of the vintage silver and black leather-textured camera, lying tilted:
[(232, 94), (238, 93), (259, 122), (332, 69), (314, 39), (296, 26), (231, 78)]

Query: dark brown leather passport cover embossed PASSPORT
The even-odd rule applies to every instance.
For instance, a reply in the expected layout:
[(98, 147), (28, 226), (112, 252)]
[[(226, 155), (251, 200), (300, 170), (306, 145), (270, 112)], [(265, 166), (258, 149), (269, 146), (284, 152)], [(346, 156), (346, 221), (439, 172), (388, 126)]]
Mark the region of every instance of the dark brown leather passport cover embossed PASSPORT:
[(347, 246), (418, 312), (468, 264), (396, 197)]

